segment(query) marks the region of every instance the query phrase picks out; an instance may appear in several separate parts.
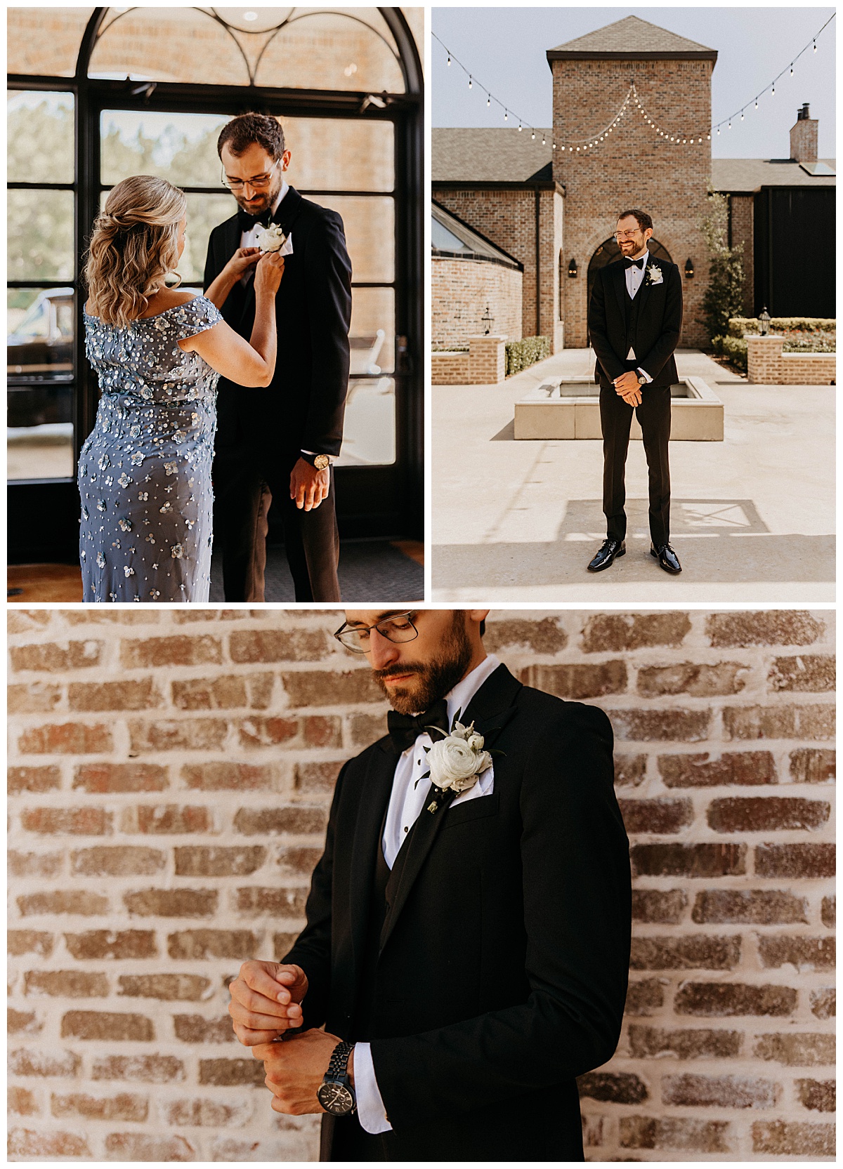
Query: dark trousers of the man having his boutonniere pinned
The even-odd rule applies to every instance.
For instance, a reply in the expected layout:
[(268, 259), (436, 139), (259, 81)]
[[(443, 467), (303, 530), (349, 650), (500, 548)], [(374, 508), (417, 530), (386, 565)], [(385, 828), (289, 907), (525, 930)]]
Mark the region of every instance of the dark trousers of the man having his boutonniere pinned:
[(270, 506), (281, 510), (284, 551), (297, 601), (339, 601), (339, 532), (334, 479), (313, 511), (290, 499), (290, 471), (297, 456), (268, 471), (247, 458), (214, 459), (214, 546), (222, 552), (227, 601), (265, 601), (267, 532)]

